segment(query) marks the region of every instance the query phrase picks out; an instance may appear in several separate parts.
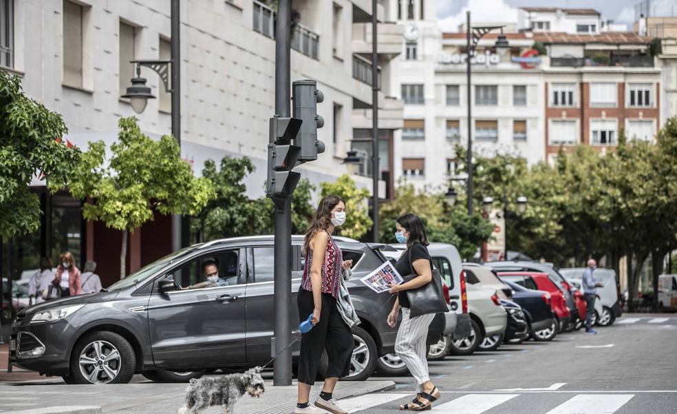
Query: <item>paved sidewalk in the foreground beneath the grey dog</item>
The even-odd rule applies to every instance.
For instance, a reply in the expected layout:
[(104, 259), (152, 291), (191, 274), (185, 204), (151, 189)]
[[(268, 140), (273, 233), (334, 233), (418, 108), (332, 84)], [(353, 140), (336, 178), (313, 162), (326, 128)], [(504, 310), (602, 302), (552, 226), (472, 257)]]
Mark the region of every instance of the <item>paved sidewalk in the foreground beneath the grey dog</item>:
[[(334, 391), (337, 399), (356, 397), (394, 389), (392, 381), (339, 382)], [(114, 385), (0, 385), (0, 413), (114, 413), (151, 414), (176, 413), (185, 398), (186, 384), (114, 384)], [(319, 395), (317, 382), (310, 393), (311, 401)], [(235, 413), (286, 414), (294, 411), (297, 387), (272, 386), (266, 382), (266, 391), (260, 398), (244, 395), (235, 405)], [(58, 407), (69, 406), (67, 411)], [(87, 408), (87, 411), (80, 408)], [(100, 407), (100, 411), (96, 407)], [(94, 407), (92, 409), (92, 407)], [(50, 408), (34, 411), (36, 408)], [(205, 414), (221, 413), (212, 407)]]

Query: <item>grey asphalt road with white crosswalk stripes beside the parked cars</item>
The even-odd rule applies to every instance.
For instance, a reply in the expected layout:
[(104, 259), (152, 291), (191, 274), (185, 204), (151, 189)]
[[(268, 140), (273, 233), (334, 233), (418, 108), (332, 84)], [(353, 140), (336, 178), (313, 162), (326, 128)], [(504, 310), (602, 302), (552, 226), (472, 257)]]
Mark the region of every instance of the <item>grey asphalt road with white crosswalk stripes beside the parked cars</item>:
[[(442, 390), (433, 412), (676, 414), (677, 316), (619, 318), (597, 331), (431, 362)], [(413, 398), (413, 378), (375, 379), (396, 389), (343, 402), (351, 412), (392, 413)]]

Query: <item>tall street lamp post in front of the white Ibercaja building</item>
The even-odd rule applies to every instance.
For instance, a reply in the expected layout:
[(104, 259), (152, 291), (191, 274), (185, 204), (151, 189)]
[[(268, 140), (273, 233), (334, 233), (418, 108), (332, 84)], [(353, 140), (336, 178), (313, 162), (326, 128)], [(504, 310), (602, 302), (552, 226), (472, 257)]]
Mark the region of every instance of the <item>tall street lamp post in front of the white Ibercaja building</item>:
[(491, 32), (494, 29), (501, 29), (501, 36), (498, 37), (495, 48), (499, 54), (504, 54), (508, 48), (508, 41), (503, 35), (503, 28), (505, 26), (481, 26), (476, 28), (470, 27), (470, 10), (466, 12), (466, 75), (468, 78), (468, 155), (466, 160), (466, 167), (468, 169), (468, 185), (466, 187), (466, 192), (468, 193), (468, 215), (473, 214), (473, 141), (471, 139), (473, 132), (473, 123), (472, 123), (472, 91), (471, 91), (471, 63), (470, 59), (475, 53), (475, 48), (477, 48), (477, 43), (480, 42), (480, 39), (484, 37), (485, 34)]

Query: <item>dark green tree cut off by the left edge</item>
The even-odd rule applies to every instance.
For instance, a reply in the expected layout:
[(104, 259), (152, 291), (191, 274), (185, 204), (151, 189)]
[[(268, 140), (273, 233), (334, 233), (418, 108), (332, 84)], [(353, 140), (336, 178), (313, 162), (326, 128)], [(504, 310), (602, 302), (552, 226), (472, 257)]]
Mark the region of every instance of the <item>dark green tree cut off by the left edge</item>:
[(0, 238), (40, 226), (40, 202), (30, 192), (37, 174), (47, 187), (67, 185), (80, 152), (61, 143), (61, 115), (25, 96), (21, 78), (0, 70)]

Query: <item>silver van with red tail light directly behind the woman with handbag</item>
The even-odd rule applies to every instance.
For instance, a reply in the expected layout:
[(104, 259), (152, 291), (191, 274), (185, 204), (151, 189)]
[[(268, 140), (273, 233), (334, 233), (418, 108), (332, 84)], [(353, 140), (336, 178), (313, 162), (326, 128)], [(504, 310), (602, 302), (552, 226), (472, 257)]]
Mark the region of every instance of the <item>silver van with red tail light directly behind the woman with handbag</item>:
[[(396, 262), (406, 249), (406, 245), (391, 245), (396, 251), (383, 251), (383, 254)], [(433, 259), (433, 266), (440, 271), (440, 275), (447, 284), (449, 291), (450, 312), (446, 313), (447, 335), (431, 344), (428, 350), (429, 360), (442, 360), (449, 353), (451, 341), (466, 338), (471, 334), (470, 314), (466, 296), (466, 283), (463, 276), (461, 256), (458, 250), (446, 243), (431, 243), (428, 251)], [(380, 358), (376, 363), (376, 371), (385, 375), (401, 375), (407, 372), (407, 368), (397, 354), (388, 354)]]

